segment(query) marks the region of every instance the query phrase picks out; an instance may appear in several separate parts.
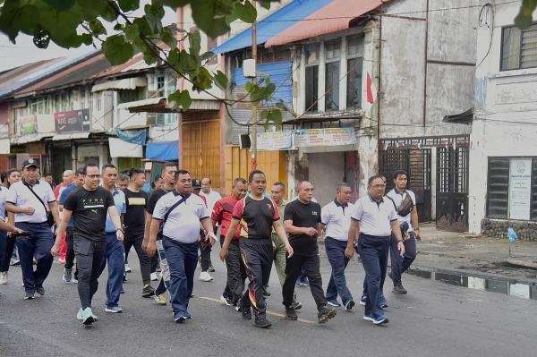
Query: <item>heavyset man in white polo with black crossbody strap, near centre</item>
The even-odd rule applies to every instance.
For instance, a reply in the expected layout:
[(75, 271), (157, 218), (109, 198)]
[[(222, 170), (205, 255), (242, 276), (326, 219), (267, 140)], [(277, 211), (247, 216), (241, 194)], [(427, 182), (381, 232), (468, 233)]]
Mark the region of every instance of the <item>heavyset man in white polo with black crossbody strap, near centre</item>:
[(158, 228), (163, 223), (162, 245), (170, 269), (168, 290), (176, 323), (192, 319), (188, 303), (192, 295), (194, 272), (198, 265), (200, 222), (209, 233), (210, 244), (216, 242), (209, 210), (199, 196), (192, 195), (192, 178), (188, 171), (175, 174), (175, 190), (158, 200), (149, 227), (148, 254), (157, 251)]

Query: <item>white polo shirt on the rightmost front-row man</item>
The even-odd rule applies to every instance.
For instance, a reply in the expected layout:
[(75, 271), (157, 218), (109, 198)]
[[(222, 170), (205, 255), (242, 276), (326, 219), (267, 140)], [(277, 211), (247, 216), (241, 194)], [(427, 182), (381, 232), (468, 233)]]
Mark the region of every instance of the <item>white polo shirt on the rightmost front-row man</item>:
[(373, 200), (368, 194), (354, 204), (353, 219), (360, 222), (360, 233), (386, 237), (391, 234), (391, 221), (397, 220), (391, 200)]

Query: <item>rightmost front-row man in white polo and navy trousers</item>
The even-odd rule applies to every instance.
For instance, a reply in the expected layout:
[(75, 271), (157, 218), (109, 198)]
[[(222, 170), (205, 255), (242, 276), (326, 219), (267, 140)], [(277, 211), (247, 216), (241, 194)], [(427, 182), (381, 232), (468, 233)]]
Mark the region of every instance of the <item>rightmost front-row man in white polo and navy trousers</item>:
[(370, 177), (367, 187), (368, 195), (363, 196), (354, 204), (355, 209), (351, 216), (351, 227), (345, 249), (347, 258), (352, 258), (355, 237), (360, 232), (357, 249), (362, 258), (367, 288), (363, 319), (375, 325), (388, 322), (379, 302), (386, 278), (389, 237), (392, 232), (397, 240), (397, 249), (401, 255), (405, 254), (405, 245), (397, 224), (396, 209), (390, 200), (383, 199), (385, 189), (386, 183), (381, 175), (376, 174)]

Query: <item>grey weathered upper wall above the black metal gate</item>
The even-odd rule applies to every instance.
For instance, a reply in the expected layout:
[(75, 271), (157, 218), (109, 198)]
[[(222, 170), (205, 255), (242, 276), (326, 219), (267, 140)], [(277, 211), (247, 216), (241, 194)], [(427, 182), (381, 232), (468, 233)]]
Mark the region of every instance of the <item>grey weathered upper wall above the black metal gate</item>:
[(470, 132), (469, 125), (442, 123), (442, 119), (473, 106), (474, 28), (479, 9), (469, 7), (472, 4), (477, 0), (429, 0), (428, 21), (423, 12), (427, 0), (389, 7), (382, 19), (381, 138)]

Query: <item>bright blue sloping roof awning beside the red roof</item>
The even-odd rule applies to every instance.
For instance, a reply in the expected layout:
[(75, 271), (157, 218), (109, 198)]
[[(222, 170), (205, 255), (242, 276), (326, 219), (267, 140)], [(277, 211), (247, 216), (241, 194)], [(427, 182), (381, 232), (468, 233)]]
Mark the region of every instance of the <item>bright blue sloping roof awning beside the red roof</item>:
[[(332, 0), (294, 0), (269, 14), (256, 25), (258, 45), (276, 37), (281, 31), (331, 2)], [(211, 52), (219, 55), (245, 47), (251, 47), (251, 27), (213, 48)]]

